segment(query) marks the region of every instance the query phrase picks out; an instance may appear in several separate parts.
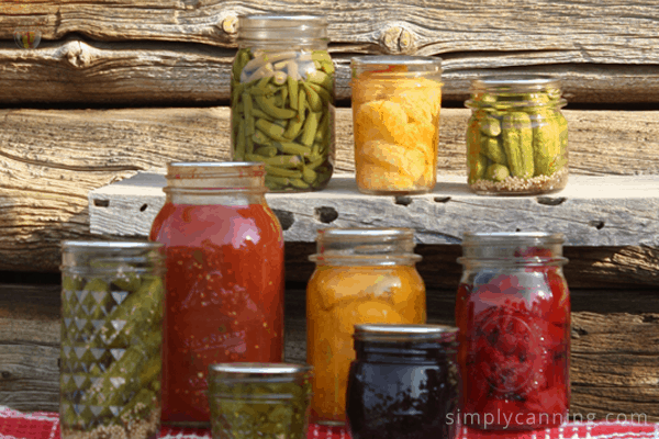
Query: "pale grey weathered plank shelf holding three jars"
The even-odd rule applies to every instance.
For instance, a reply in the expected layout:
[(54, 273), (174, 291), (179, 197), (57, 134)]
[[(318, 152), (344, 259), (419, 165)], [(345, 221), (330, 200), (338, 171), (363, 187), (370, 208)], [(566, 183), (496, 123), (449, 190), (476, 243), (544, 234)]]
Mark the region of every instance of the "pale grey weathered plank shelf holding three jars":
[[(357, 190), (353, 173), (340, 173), (323, 191), (268, 193), (266, 199), (281, 218), (287, 241), (312, 243), (325, 227), (412, 227), (422, 244), (459, 244), (468, 230), (546, 230), (565, 234), (569, 246), (659, 245), (656, 176), (572, 176), (552, 196), (512, 198), (476, 195), (461, 176), (437, 180), (428, 194), (372, 196)], [(165, 203), (165, 185), (164, 176), (139, 173), (92, 191), (91, 232), (148, 236)]]

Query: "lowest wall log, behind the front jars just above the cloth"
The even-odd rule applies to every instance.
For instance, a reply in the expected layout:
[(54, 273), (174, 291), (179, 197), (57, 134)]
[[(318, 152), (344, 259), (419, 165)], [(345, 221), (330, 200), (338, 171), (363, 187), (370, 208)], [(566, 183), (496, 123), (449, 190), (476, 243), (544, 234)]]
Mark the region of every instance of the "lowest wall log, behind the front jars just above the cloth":
[[(571, 413), (659, 421), (655, 290), (572, 290)], [(624, 307), (619, 304), (624, 302)], [(455, 290), (428, 290), (428, 322), (454, 325)], [(286, 360), (306, 360), (305, 291), (286, 293)], [(0, 284), (0, 401), (58, 409), (59, 286)]]

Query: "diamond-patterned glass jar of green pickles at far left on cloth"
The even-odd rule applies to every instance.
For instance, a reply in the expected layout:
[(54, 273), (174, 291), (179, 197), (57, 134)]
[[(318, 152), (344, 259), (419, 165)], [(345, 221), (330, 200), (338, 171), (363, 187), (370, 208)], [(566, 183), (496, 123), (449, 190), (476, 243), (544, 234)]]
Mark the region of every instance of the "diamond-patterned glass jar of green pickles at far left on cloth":
[(64, 439), (156, 438), (164, 268), (159, 244), (63, 243)]

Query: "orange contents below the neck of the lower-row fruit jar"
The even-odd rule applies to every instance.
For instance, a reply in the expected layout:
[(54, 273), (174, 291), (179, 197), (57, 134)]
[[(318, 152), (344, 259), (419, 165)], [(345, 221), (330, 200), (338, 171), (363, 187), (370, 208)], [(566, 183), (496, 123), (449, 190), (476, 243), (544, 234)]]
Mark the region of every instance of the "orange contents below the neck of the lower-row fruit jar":
[(414, 266), (316, 267), (306, 289), (312, 421), (345, 423), (354, 328), (373, 323), (426, 323), (425, 285)]

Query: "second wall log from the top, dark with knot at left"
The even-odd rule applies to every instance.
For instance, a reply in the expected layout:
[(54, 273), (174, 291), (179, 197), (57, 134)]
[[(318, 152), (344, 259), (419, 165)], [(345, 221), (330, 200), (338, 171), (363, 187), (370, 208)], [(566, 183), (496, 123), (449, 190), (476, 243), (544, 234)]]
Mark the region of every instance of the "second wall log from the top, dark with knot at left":
[[(0, 100), (5, 104), (87, 105), (228, 102), (234, 54), (234, 49), (201, 44), (89, 42), (74, 36), (44, 42), (33, 50), (0, 42)], [(353, 55), (333, 53), (336, 97), (346, 104)], [(659, 102), (656, 65), (555, 65), (551, 63), (562, 60), (551, 57), (520, 63), (518, 56), (451, 54), (444, 60), (443, 99), (460, 104), (468, 99), (474, 78), (506, 71), (554, 75), (560, 78), (563, 95), (572, 103)]]

